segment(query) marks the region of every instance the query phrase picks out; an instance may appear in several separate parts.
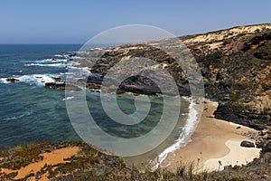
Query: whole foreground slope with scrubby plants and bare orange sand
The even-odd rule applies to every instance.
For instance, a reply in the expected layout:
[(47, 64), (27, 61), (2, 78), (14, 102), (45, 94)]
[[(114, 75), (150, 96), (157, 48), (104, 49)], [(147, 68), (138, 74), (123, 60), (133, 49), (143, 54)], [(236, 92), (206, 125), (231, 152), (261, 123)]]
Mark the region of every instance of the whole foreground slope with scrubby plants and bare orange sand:
[[(266, 129), (260, 134), (270, 136), (271, 131)], [(264, 143), (261, 157), (247, 166), (197, 173), (192, 171), (194, 164), (180, 164), (174, 172), (160, 167), (153, 172), (147, 167), (126, 167), (121, 157), (108, 156), (80, 141), (0, 148), (0, 180), (270, 180), (271, 137), (259, 138)], [(63, 158), (64, 150), (70, 148), (76, 148), (77, 153)]]

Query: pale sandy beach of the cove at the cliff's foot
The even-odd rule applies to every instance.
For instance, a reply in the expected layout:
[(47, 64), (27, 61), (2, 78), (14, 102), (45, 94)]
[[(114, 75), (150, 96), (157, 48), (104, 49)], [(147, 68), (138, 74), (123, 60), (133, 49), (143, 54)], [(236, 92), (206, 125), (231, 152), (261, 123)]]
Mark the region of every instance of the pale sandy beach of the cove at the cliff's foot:
[[(214, 119), (213, 112), (217, 106), (217, 102), (207, 101), (201, 121), (192, 134), (192, 141), (169, 154), (162, 166), (169, 166), (171, 170), (176, 170), (181, 162), (194, 161), (195, 167), (199, 170), (202, 168), (215, 170), (230, 164), (232, 166), (237, 163), (238, 165), (246, 164), (253, 158), (259, 157), (259, 148), (241, 148), (239, 146), (242, 140), (253, 141), (244, 136), (245, 133), (249, 131), (257, 133), (257, 130)], [(241, 128), (237, 129), (238, 126)], [(222, 167), (219, 161), (221, 161)]]

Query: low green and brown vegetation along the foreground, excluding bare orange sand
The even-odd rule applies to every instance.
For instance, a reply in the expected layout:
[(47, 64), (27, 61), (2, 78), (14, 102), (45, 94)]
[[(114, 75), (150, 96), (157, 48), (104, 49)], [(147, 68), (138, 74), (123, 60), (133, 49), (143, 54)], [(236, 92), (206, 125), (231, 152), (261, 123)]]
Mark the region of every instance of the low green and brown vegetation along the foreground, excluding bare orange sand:
[[(156, 170), (145, 168), (142, 171), (140, 167), (126, 167), (121, 157), (108, 156), (90, 147), (88, 144), (73, 141), (58, 145), (44, 142), (31, 145), (23, 145), (17, 148), (2, 149), (0, 161), (1, 168), (14, 169), (14, 172), (1, 173), (1, 180), (14, 180), (17, 176), (16, 168), (25, 167), (39, 159), (38, 153), (49, 152), (58, 148), (79, 147), (77, 156), (67, 159), (67, 163), (56, 165), (44, 165), (37, 173), (31, 173), (21, 180), (27, 180), (30, 177), (37, 179), (46, 176), (50, 180), (257, 180), (265, 179), (271, 174), (271, 154), (262, 154), (261, 158), (255, 159), (248, 166), (222, 167), (222, 171), (210, 172), (203, 169), (199, 163), (180, 163), (175, 171), (170, 171), (164, 167), (158, 167)], [(32, 148), (30, 151), (29, 148)], [(20, 150), (20, 152), (18, 152)], [(28, 157), (22, 159), (16, 164), (6, 165), (7, 162), (14, 163), (18, 157)], [(33, 158), (33, 161), (28, 161)], [(139, 171), (141, 170), (141, 171)]]

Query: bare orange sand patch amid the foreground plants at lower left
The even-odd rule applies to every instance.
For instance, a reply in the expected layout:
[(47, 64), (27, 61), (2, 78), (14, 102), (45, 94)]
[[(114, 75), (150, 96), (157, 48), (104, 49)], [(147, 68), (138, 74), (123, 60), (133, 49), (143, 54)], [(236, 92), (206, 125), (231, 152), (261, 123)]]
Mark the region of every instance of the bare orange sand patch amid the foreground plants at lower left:
[[(21, 179), (31, 173), (36, 174), (41, 168), (47, 165), (56, 165), (59, 163), (67, 163), (69, 161), (65, 161), (65, 158), (69, 158), (71, 156), (76, 155), (79, 152), (78, 147), (71, 147), (71, 148), (60, 148), (51, 151), (51, 153), (43, 153), (41, 156), (43, 157), (42, 161), (32, 163), (26, 167), (22, 167), (19, 170), (11, 170), (11, 169), (1, 169), (1, 172), (6, 174), (12, 172), (18, 172), (18, 175), (14, 177), (14, 179)], [(46, 176), (42, 176), (41, 180), (48, 180)]]

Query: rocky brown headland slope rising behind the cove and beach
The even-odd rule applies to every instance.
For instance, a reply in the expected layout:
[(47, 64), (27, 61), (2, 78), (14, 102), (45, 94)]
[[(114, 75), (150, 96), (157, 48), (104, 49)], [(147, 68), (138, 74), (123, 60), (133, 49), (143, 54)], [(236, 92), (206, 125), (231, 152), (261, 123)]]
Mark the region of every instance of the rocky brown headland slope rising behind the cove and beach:
[[(204, 96), (220, 102), (215, 112), (218, 119), (254, 129), (271, 125), (271, 24), (240, 26), (179, 39), (185, 46), (167, 39), (80, 52), (77, 56), (84, 59), (76, 66), (91, 68), (92, 75), (66, 82), (67, 89), (81, 90), (79, 86), (98, 91), (107, 76), (103, 92), (156, 95), (164, 88), (164, 94), (173, 94), (174, 83), (168, 81), (168, 77), (173, 77), (180, 95), (190, 96), (193, 81), (201, 81), (193, 73), (187, 76), (196, 66), (190, 61), (181, 66), (175, 58), (187, 61), (193, 56), (204, 79)], [(150, 79), (148, 75), (153, 76)], [(158, 85), (156, 82), (161, 80), (163, 85)], [(45, 86), (64, 89), (63, 83)]]

